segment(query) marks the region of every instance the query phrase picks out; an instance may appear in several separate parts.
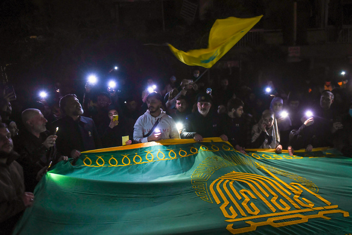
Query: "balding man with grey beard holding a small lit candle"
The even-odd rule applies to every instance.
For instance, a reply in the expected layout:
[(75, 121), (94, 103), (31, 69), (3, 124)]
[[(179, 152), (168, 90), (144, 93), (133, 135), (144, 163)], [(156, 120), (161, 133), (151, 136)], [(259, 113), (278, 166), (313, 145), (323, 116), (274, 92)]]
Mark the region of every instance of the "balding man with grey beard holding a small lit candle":
[(18, 162), (23, 167), (24, 185), (27, 191), (34, 192), (38, 184), (39, 171), (42, 176), (50, 162), (52, 165), (66, 156), (57, 154), (55, 147), (56, 135), (50, 135), (46, 130), (47, 120), (39, 109), (28, 108), (22, 112), (24, 128), (14, 138), (15, 150), (21, 155)]

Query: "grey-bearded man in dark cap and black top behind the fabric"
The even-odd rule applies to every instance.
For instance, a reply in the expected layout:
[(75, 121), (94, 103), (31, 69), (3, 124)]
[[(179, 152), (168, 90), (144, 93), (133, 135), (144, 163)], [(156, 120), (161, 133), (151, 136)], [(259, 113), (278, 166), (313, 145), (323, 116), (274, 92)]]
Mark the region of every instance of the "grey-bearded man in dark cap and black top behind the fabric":
[[(195, 141), (202, 141), (206, 137), (219, 136), (218, 123), (216, 118), (209, 112), (212, 104), (212, 99), (209, 94), (200, 93), (197, 96), (198, 110), (186, 117), (185, 125), (183, 127), (181, 138), (194, 139)], [(227, 141), (227, 136), (220, 135), (223, 141)]]

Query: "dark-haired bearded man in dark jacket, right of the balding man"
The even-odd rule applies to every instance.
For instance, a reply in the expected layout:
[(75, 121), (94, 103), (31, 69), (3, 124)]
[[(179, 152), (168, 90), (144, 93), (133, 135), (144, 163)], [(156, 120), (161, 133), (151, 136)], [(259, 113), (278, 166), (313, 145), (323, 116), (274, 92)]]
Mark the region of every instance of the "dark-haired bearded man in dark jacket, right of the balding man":
[(68, 157), (78, 158), (81, 151), (101, 148), (95, 124), (91, 118), (81, 116), (83, 109), (77, 96), (68, 94), (60, 99), (59, 106), (65, 116), (52, 123), (52, 131), (56, 127), (57, 149)]

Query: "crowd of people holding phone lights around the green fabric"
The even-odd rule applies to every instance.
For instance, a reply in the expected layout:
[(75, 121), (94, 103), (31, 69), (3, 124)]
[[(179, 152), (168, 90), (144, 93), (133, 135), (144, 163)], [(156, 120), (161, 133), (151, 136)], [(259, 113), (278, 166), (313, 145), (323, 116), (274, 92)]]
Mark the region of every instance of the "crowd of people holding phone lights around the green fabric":
[[(234, 88), (229, 78), (217, 84), (196, 82), (199, 71), (178, 84), (172, 76), (163, 89), (153, 79), (136, 95), (87, 83), (83, 100), (63, 94), (16, 104), (13, 90), (0, 97), (0, 224), (11, 233), (34, 188), (48, 168), (82, 151), (162, 139), (220, 137), (238, 151), (274, 149), (311, 151), (333, 147), (352, 156), (352, 103), (348, 81), (333, 87), (303, 86), (286, 94), (264, 87)], [(20, 108), (19, 108), (20, 107)]]

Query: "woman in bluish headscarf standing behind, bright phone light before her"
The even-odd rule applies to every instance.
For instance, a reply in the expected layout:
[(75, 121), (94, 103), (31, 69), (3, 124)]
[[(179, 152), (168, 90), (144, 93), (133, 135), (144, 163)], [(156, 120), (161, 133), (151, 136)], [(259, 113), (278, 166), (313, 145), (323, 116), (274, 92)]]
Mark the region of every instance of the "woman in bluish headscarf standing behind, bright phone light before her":
[(283, 112), (284, 101), (280, 97), (275, 97), (270, 103), (270, 110), (275, 113), (278, 129), (281, 136), (281, 145), (288, 147), (288, 136), (292, 129), (292, 122), (287, 112)]

